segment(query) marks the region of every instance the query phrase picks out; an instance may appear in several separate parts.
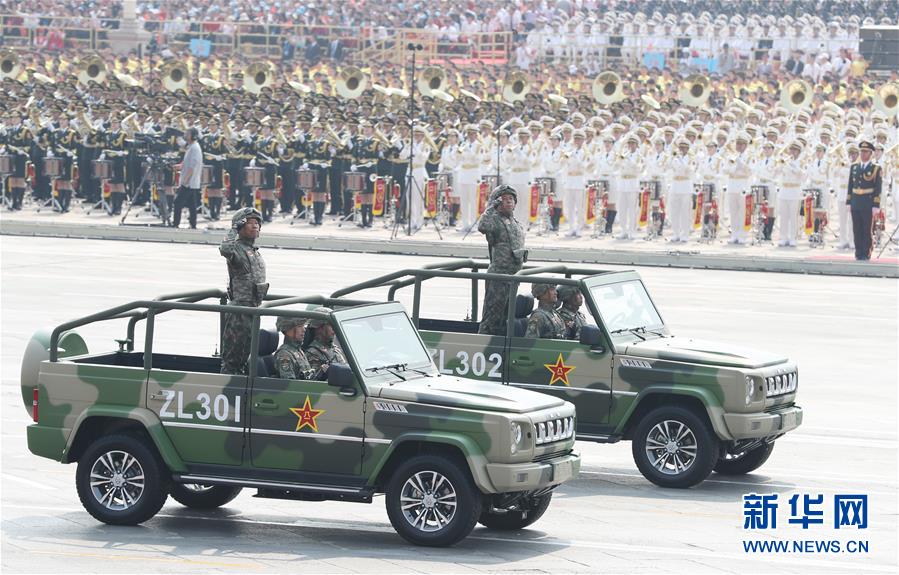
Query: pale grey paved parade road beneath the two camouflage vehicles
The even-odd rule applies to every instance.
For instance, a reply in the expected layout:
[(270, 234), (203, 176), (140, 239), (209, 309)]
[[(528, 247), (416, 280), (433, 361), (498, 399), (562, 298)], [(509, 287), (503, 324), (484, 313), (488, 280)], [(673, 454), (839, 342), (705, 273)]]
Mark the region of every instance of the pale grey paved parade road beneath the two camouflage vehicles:
[[(478, 528), (453, 549), (406, 545), (381, 499), (373, 505), (254, 499), (211, 513), (170, 501), (143, 526), (94, 521), (74, 466), (32, 456), (18, 388), (30, 334), (138, 298), (221, 287), (210, 246), (0, 237), (2, 559), (5, 572), (895, 572), (897, 536), (897, 284), (895, 280), (747, 272), (640, 270), (678, 334), (783, 351), (799, 361), (805, 423), (742, 478), (663, 490), (644, 480), (630, 444), (578, 443), (581, 477), (557, 492), (532, 529)], [(324, 293), (432, 259), (266, 250), (277, 293)], [(445, 313), (465, 295), (441, 290)], [(120, 331), (86, 333), (93, 349)], [(192, 324), (173, 345), (203, 345)], [(177, 341), (175, 341), (177, 339)], [(743, 530), (743, 494), (779, 494), (778, 529)], [(823, 494), (826, 524), (787, 525), (793, 494)], [(869, 496), (868, 528), (835, 530), (831, 498)], [(746, 553), (743, 541), (868, 542), (867, 553)], [(792, 543), (791, 543), (792, 544)]]

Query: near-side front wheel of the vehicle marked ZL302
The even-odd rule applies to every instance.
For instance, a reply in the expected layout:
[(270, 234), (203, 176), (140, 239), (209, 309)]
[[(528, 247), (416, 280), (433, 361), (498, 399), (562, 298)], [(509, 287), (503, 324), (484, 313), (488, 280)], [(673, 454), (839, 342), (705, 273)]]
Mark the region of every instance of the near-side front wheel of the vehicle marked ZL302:
[(637, 424), (631, 445), (643, 476), (660, 487), (702, 483), (718, 461), (718, 438), (690, 409), (657, 407)]

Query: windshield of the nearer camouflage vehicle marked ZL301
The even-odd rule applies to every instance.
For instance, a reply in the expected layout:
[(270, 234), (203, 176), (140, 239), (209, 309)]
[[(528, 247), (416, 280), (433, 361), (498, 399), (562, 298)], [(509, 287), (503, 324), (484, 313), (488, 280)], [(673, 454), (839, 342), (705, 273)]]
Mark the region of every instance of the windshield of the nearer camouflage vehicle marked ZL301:
[[(346, 349), (366, 377), (402, 373), (411, 377), (413, 370), (433, 369), (428, 355), (409, 316), (388, 313), (340, 322), (347, 342)], [(420, 371), (418, 373), (421, 373)]]

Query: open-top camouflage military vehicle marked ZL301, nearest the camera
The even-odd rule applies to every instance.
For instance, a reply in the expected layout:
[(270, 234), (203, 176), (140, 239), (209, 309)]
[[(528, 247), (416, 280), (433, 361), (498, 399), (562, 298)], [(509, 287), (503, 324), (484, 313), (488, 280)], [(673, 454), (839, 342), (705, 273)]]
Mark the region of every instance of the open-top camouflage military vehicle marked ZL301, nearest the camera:
[[(157, 316), (222, 314), (231, 308), (197, 302), (223, 295), (134, 302), (29, 343), (21, 378), (35, 421), (29, 449), (78, 462), (79, 496), (101, 521), (145, 521), (169, 493), (197, 508), (224, 504), (242, 487), (303, 500), (371, 502), (386, 493), (400, 535), (449, 545), (478, 521), (529, 525), (553, 489), (577, 475), (573, 405), (439, 374), (395, 302), (269, 296), (243, 308), (254, 316), (247, 376), (219, 373), (214, 355), (154, 351)], [(315, 305), (335, 311), (310, 311)], [(324, 381), (278, 379), (269, 359), (278, 337), (260, 325), (285, 315), (329, 322), (349, 363), (333, 364)], [(74, 331), (123, 317), (128, 333), (118, 351), (91, 354)], [(145, 349), (135, 351), (142, 321)], [(137, 468), (139, 479), (129, 471)]]

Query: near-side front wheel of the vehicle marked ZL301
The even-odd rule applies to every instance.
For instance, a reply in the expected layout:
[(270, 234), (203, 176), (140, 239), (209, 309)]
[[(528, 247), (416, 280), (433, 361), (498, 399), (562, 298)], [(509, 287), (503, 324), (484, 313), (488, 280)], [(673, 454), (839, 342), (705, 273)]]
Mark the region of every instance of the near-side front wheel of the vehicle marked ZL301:
[(419, 455), (394, 472), (387, 486), (387, 515), (403, 539), (447, 547), (471, 533), (481, 515), (481, 493), (464, 465)]

